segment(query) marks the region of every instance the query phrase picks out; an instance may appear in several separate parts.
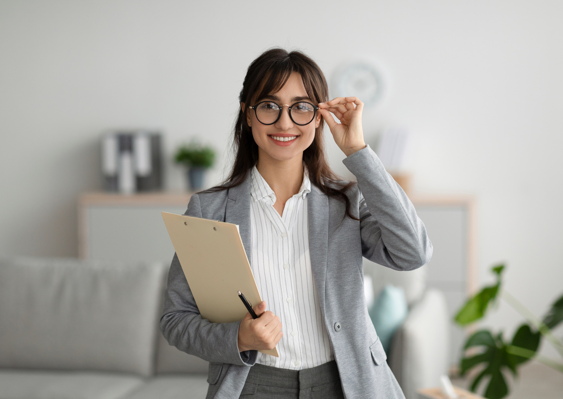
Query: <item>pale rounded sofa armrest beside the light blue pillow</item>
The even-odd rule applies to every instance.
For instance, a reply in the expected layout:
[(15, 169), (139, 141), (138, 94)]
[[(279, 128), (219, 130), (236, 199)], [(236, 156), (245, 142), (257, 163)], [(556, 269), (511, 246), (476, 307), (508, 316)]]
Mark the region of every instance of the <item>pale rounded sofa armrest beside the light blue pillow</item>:
[(429, 289), (395, 332), (388, 363), (406, 399), (416, 398), (419, 388), (440, 385), (448, 373), (449, 324), (445, 295)]

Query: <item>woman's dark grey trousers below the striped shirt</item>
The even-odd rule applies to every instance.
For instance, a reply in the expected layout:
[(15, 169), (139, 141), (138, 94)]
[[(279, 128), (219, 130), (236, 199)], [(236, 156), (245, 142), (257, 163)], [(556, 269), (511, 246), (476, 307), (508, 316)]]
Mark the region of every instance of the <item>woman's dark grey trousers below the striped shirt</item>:
[(287, 370), (255, 364), (241, 399), (344, 399), (336, 362), (304, 370)]

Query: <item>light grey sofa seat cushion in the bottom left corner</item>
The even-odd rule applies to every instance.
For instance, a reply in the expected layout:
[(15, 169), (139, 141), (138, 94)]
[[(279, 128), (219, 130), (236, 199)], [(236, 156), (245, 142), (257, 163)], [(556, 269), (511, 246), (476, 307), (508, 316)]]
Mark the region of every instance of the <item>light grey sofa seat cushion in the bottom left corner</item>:
[(0, 370), (0, 399), (118, 399), (142, 384), (132, 375)]

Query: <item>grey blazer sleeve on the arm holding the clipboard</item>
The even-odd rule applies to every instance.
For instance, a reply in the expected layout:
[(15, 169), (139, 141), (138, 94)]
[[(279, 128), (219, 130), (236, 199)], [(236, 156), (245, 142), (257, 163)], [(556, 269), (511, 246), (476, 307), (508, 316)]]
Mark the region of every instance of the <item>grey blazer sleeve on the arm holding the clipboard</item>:
[[(191, 197), (185, 214), (202, 217), (198, 194)], [(168, 343), (180, 351), (209, 362), (253, 365), (256, 362), (256, 351), (239, 353), (239, 325), (240, 321), (212, 323), (203, 319), (180, 261), (174, 254), (168, 272), (168, 286), (164, 293), (164, 310), (160, 318), (160, 330)]]

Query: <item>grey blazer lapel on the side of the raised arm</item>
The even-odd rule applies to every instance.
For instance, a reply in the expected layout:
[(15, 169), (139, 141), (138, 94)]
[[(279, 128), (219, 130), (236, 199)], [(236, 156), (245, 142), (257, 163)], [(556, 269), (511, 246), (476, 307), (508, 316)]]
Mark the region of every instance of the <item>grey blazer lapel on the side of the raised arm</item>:
[(307, 208), (311, 267), (320, 307), (324, 310), (328, 261), (328, 196), (318, 187), (311, 185), (311, 192), (307, 194)]

